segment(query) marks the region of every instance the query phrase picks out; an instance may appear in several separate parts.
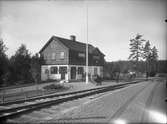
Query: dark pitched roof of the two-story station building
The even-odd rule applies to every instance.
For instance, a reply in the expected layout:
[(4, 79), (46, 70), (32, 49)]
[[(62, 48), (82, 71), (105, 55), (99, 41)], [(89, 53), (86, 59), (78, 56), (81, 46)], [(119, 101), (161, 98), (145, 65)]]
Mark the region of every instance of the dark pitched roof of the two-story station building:
[[(63, 45), (65, 45), (70, 50), (75, 50), (75, 51), (79, 51), (79, 52), (85, 52), (86, 51), (86, 44), (85, 43), (81, 43), (81, 42), (78, 42), (78, 41), (72, 41), (72, 40), (57, 37), (57, 36), (52, 36), (49, 39), (49, 41), (44, 45), (44, 47), (39, 51), (39, 53), (41, 53), (50, 44), (50, 42), (52, 42), (53, 40), (60, 41), (61, 43), (63, 43)], [(89, 47), (89, 53), (93, 53), (93, 54), (99, 54), (100, 53), (101, 55), (104, 56), (104, 54), (97, 47), (94, 47), (91, 44), (89, 44), (88, 47)]]

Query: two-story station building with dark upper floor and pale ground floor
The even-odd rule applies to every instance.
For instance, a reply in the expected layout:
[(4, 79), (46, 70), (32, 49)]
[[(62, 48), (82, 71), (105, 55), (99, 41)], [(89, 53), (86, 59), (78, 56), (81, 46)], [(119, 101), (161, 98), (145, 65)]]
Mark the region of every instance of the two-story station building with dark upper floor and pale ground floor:
[[(104, 54), (92, 45), (88, 45), (89, 76), (103, 77)], [(52, 36), (40, 50), (44, 58), (41, 66), (41, 80), (82, 80), (86, 69), (86, 44), (70, 39)]]

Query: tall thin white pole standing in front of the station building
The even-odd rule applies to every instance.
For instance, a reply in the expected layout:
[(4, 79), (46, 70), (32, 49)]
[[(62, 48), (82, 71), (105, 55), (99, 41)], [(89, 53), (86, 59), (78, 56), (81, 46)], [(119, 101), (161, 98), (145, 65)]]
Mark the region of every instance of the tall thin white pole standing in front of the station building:
[(88, 61), (88, 3), (86, 4), (86, 84), (88, 84), (88, 73), (89, 73), (89, 61)]

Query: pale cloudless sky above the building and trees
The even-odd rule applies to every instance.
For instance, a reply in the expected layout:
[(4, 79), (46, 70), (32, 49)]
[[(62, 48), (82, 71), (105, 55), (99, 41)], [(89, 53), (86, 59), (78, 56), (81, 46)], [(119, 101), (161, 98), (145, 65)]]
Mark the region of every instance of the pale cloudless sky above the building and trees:
[(166, 0), (1, 0), (0, 38), (10, 57), (21, 44), (34, 54), (53, 35), (86, 43), (88, 33), (106, 61), (118, 61), (128, 59), (129, 40), (139, 33), (167, 59), (165, 19)]

